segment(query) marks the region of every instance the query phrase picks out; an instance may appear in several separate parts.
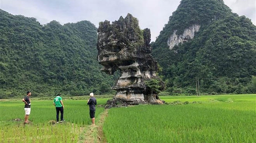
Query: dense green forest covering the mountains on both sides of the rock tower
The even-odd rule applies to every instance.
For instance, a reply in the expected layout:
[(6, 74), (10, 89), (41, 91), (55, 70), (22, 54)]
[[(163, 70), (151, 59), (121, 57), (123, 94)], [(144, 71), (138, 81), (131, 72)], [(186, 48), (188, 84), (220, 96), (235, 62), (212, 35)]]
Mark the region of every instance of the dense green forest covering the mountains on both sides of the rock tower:
[[(170, 50), (169, 36), (193, 24), (200, 25), (194, 39)], [(255, 29), (223, 0), (182, 0), (152, 43), (166, 91), (256, 93)], [(119, 73), (100, 72), (96, 42), (97, 28), (90, 21), (41, 25), (35, 18), (0, 10), (0, 98), (22, 96), (27, 90), (33, 96), (113, 92)]]

